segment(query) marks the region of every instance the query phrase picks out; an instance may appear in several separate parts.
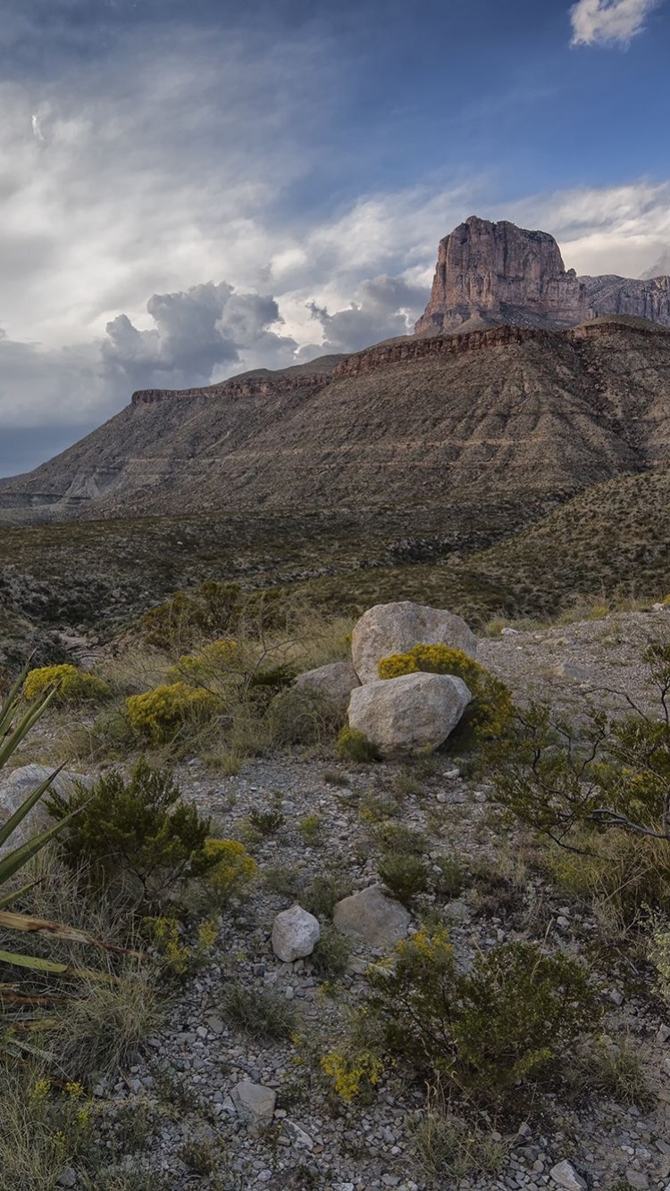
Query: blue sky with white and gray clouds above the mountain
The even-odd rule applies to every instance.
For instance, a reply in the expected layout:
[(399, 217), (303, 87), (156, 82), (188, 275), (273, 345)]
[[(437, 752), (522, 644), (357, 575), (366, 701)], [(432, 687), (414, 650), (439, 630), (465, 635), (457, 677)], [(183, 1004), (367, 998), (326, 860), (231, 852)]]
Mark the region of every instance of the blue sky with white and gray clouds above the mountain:
[(411, 331), (471, 214), (670, 273), (670, 0), (0, 0), (0, 475)]

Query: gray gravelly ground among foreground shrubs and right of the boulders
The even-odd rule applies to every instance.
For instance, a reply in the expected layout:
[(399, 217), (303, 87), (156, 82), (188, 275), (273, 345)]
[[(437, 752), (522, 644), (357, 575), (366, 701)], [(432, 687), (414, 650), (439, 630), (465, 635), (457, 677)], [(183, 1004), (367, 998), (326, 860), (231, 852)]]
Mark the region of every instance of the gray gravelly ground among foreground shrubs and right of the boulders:
[[(545, 693), (571, 712), (590, 697), (625, 706), (614, 690), (650, 705), (640, 647), (670, 632), (666, 615), (508, 631), (482, 642), (479, 659), (517, 694)], [(113, 1086), (95, 1087), (111, 1120), (145, 1114), (137, 1153), (128, 1145), (129, 1166), (167, 1173), (175, 1191), (221, 1185), (287, 1191), (670, 1187), (670, 1018), (649, 994), (650, 973), (608, 950), (600, 918), (557, 893), (532, 861), (523, 861), (519, 848), (527, 841), (496, 813), (485, 784), (469, 779), (447, 755), (432, 775), (408, 780), (410, 774), (392, 763), (343, 767), (296, 755), (256, 760), (228, 778), (198, 761), (180, 767), (184, 796), (212, 815), (222, 834), (244, 836), (247, 817), (259, 810), (278, 811), (281, 823), (253, 844), (259, 879), (250, 896), (222, 917), (215, 962), (175, 997), (163, 1029), (137, 1064)], [(299, 824), (315, 813), (318, 837), (306, 842)], [(309, 959), (278, 960), (272, 925), (293, 900), (309, 899), (315, 878), (336, 879), (342, 892), (378, 883), (376, 818), (424, 831), (433, 861), (458, 856), (477, 873), (458, 897), (423, 894), (415, 906), (445, 916), (465, 962), (477, 948), (517, 939), (546, 939), (588, 958), (602, 981), (609, 1036), (627, 1039), (644, 1060), (649, 1100), (598, 1096), (587, 1075), (571, 1096), (520, 1109), (519, 1120), (489, 1122), (505, 1152), (498, 1173), (432, 1179), (415, 1141), (423, 1087), (396, 1070), (385, 1074), (371, 1103), (347, 1106), (328, 1095), (314, 1054), (342, 1030), (347, 1010), (362, 996), (365, 968), (379, 953), (355, 944), (345, 975), (328, 981)], [(231, 983), (277, 992), (296, 1011), (308, 1041), (262, 1041), (232, 1024), (224, 1008)], [(240, 1087), (248, 1084), (258, 1090)], [(198, 1166), (205, 1152), (215, 1155), (219, 1183)]]

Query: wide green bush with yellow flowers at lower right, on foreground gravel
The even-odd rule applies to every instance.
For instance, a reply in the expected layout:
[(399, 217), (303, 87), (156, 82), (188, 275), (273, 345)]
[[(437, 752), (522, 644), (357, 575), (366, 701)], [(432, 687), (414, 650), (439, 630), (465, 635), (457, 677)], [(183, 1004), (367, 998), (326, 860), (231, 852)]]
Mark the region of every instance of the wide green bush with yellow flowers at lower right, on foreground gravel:
[(484, 1099), (547, 1073), (598, 1019), (583, 969), (534, 943), (496, 947), (463, 973), (442, 928), (420, 931), (367, 979), (386, 1050)]

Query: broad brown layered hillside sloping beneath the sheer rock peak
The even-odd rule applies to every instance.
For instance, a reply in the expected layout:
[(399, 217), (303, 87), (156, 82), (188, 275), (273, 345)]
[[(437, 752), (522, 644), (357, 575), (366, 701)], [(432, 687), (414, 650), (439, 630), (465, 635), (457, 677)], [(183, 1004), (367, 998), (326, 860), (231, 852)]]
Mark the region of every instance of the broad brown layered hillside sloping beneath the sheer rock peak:
[(564, 499), (670, 459), (670, 331), (409, 338), (310, 370), (137, 393), (92, 435), (0, 484), (5, 519)]

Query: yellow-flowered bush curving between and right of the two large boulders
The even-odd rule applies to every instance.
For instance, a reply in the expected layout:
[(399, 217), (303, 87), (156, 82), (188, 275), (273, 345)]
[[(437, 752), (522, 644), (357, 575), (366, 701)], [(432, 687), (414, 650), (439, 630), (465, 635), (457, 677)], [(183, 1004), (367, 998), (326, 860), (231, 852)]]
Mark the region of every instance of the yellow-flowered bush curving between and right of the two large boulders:
[(405, 654), (392, 654), (379, 662), (381, 679), (418, 672), (461, 678), (472, 696), (472, 701), (449, 737), (452, 746), (465, 748), (479, 744), (486, 740), (495, 740), (504, 730), (513, 712), (507, 686), (463, 649), (451, 649), (448, 646), (415, 646)]

